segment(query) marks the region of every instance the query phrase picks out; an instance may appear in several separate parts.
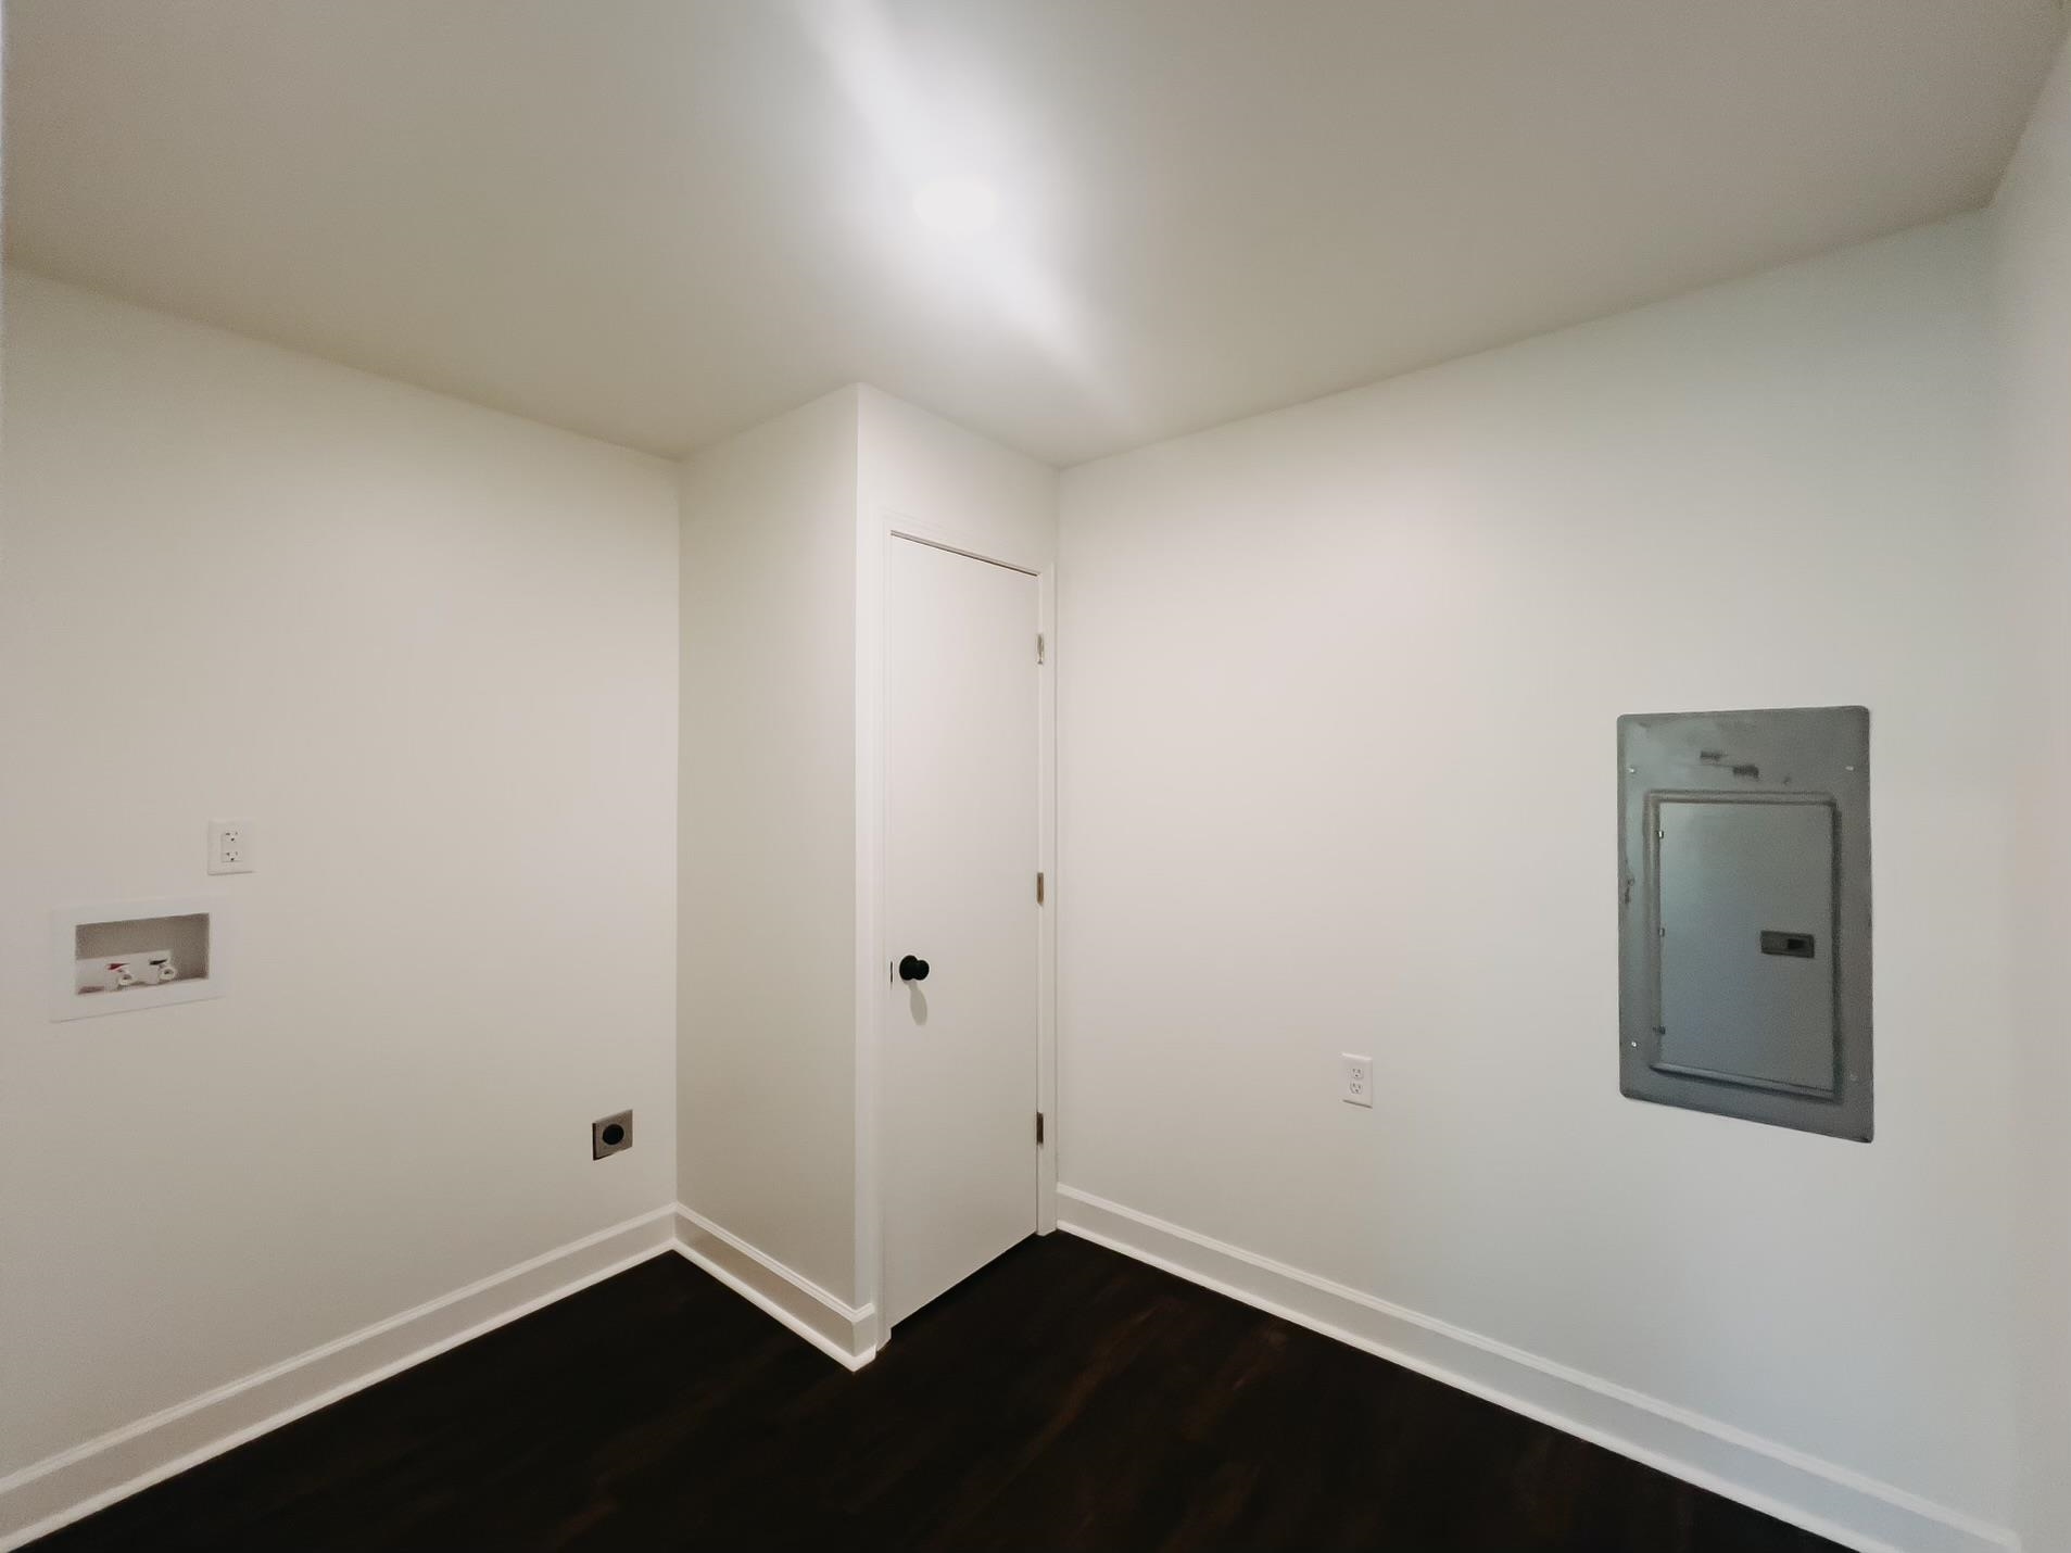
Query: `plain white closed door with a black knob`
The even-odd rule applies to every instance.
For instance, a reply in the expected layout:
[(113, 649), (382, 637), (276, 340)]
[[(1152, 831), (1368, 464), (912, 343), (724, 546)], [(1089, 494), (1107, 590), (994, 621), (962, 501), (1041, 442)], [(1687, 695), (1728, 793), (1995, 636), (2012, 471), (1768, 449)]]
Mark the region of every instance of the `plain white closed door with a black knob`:
[(884, 1307), (1036, 1232), (1036, 578), (891, 540)]

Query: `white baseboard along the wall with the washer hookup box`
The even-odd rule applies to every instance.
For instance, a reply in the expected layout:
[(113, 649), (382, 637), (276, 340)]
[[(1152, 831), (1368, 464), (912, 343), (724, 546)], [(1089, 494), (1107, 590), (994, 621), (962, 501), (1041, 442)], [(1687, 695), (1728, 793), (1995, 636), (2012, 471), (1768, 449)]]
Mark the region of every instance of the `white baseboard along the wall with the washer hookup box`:
[(661, 1207), (0, 1478), (0, 1553), (675, 1247)]

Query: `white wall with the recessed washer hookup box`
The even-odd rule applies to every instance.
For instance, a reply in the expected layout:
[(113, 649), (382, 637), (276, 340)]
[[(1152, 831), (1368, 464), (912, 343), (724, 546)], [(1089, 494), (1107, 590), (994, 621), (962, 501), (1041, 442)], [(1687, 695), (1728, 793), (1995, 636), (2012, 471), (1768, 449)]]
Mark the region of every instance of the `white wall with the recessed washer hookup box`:
[[(659, 460), (19, 271), (4, 371), (0, 1474), (669, 1201), (677, 621)], [(230, 996), (50, 1023), (205, 888)]]

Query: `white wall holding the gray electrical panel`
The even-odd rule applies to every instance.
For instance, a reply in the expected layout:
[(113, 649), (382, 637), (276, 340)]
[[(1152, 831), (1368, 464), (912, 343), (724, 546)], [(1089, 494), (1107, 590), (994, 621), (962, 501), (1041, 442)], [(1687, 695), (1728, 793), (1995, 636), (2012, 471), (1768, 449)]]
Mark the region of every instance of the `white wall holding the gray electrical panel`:
[[(2007, 1518), (1984, 248), (1064, 474), (1069, 1186)], [(1874, 716), (1876, 1141), (1624, 1100), (1615, 716), (1829, 702)]]

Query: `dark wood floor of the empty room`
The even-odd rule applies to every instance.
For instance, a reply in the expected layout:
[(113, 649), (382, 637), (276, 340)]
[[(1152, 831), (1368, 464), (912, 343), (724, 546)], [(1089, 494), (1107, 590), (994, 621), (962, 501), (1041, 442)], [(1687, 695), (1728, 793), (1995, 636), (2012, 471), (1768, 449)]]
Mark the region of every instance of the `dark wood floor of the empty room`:
[(806, 1543), (1833, 1549), (1069, 1234), (859, 1375), (663, 1255), (35, 1547)]

